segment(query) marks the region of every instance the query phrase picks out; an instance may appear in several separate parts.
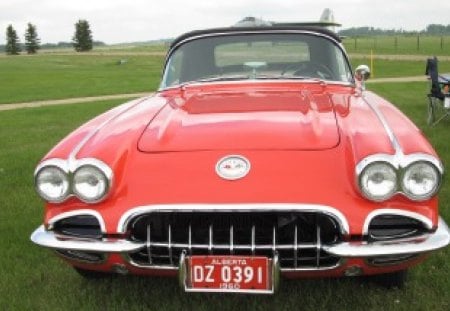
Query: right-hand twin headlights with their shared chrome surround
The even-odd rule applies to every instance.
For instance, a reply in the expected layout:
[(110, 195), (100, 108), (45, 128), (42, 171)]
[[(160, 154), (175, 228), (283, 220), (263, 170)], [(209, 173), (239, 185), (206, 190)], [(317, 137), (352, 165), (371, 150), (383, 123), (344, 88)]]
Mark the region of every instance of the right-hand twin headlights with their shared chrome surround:
[(442, 165), (430, 156), (410, 156), (395, 161), (388, 156), (363, 160), (357, 167), (359, 188), (372, 201), (385, 201), (402, 193), (413, 201), (424, 201), (439, 190)]

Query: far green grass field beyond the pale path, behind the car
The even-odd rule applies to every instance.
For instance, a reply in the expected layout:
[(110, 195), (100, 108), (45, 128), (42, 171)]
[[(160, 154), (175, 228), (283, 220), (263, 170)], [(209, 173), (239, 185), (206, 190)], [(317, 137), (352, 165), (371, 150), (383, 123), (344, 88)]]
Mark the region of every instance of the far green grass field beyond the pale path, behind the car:
[[(67, 50), (38, 55), (0, 57), (0, 104), (45, 99), (151, 92), (158, 88), (164, 45), (118, 46), (76, 54)], [(123, 64), (119, 64), (123, 60)], [(422, 61), (374, 61), (376, 78), (418, 76)], [(368, 58), (352, 59), (354, 67), (370, 65)], [(440, 62), (450, 72), (450, 62)]]

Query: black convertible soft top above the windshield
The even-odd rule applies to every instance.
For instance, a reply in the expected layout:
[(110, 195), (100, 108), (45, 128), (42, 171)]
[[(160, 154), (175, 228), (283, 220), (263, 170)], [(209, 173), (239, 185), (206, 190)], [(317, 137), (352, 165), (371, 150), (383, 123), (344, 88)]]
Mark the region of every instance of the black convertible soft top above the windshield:
[(270, 31), (308, 31), (308, 32), (315, 32), (320, 33), (323, 35), (327, 35), (329, 37), (332, 37), (338, 42), (341, 42), (341, 37), (337, 35), (335, 32), (326, 29), (325, 27), (320, 26), (304, 26), (304, 25), (296, 25), (296, 24), (285, 24), (285, 25), (274, 25), (274, 26), (257, 26), (257, 27), (225, 27), (225, 28), (211, 28), (211, 29), (204, 29), (204, 30), (194, 30), (187, 32), (185, 34), (182, 34), (178, 38), (176, 38), (174, 41), (172, 41), (170, 45), (170, 49), (178, 45), (178, 43), (187, 40), (189, 38), (198, 37), (202, 35), (211, 35), (211, 34), (232, 34), (232, 33), (251, 33), (251, 32), (270, 32)]

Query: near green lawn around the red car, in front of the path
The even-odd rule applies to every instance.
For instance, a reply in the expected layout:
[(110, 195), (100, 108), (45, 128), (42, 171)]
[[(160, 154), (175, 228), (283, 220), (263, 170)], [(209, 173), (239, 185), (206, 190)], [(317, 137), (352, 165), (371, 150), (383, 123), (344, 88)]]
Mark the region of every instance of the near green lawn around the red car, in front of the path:
[[(425, 83), (377, 84), (369, 88), (394, 101), (409, 115), (431, 139), (444, 164), (450, 165), (450, 121), (433, 128), (426, 126)], [(118, 103), (0, 112), (1, 310), (450, 309), (450, 249), (433, 254), (412, 269), (403, 290), (388, 291), (354, 278), (283, 279), (280, 292), (274, 296), (203, 295), (183, 293), (176, 279), (82, 279), (50, 251), (29, 241), (31, 232), (42, 221), (42, 202), (33, 190), (33, 170), (59, 139)], [(449, 222), (448, 185), (440, 197), (442, 215)]]

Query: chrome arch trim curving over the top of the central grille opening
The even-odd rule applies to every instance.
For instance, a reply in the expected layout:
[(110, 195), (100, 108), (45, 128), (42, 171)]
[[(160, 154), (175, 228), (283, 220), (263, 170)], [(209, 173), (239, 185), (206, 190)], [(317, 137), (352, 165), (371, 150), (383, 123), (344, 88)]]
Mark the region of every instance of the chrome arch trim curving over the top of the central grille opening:
[(155, 204), (139, 206), (122, 215), (117, 225), (119, 234), (125, 233), (129, 222), (140, 215), (156, 212), (320, 212), (333, 217), (341, 233), (348, 235), (350, 228), (345, 216), (335, 208), (318, 204), (249, 203), (249, 204)]

